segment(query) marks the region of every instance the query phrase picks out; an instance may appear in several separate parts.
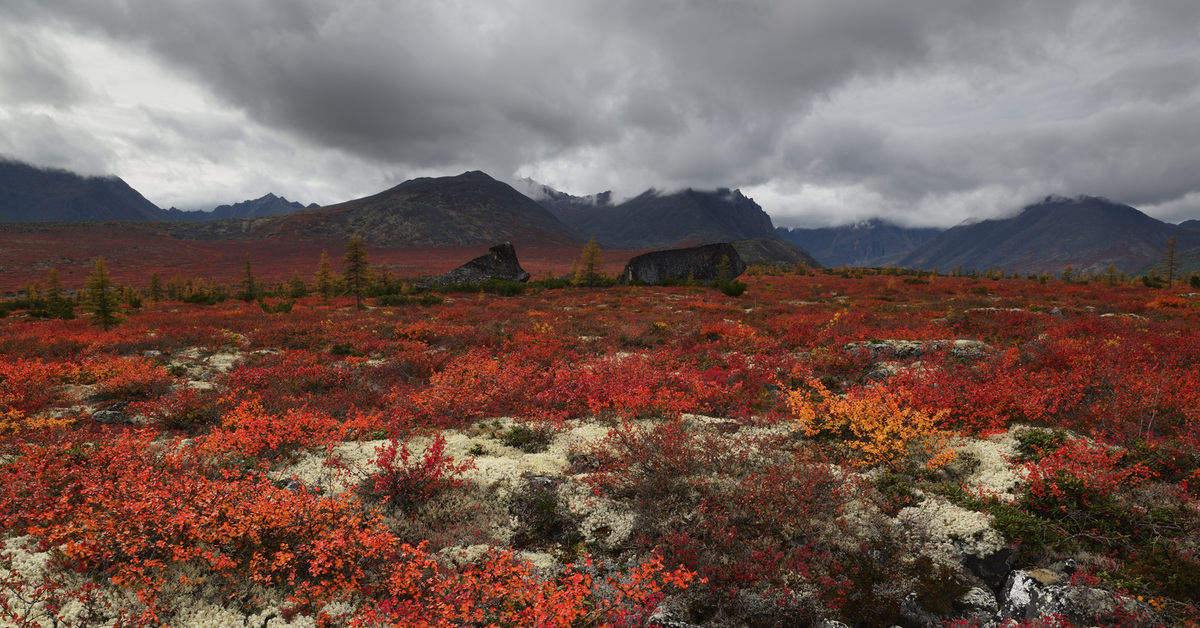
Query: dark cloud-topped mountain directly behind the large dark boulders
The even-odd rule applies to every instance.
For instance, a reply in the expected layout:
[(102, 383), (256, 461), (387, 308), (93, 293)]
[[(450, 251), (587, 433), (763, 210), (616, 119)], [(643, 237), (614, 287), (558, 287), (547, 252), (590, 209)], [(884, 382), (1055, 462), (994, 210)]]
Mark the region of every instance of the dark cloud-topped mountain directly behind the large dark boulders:
[(610, 249), (779, 238), (770, 216), (738, 190), (649, 190), (613, 205), (608, 192), (574, 197), (546, 187), (539, 202), (584, 238)]

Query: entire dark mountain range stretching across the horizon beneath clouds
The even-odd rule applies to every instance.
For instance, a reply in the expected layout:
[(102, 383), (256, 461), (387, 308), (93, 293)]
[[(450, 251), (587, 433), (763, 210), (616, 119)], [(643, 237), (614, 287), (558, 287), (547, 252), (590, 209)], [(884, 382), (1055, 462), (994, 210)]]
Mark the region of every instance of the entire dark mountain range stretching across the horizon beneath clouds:
[[(758, 253), (776, 255), (775, 262), (781, 263), (1020, 273), (1061, 273), (1068, 265), (1082, 273), (1103, 271), (1109, 264), (1145, 273), (1175, 235), (1180, 268), (1200, 268), (1200, 221), (1170, 225), (1090, 196), (1046, 197), (1012, 217), (944, 231), (882, 220), (776, 229), (770, 216), (738, 190), (648, 190), (618, 202), (611, 192), (572, 196), (530, 180), (517, 185), (524, 193), (475, 171), (413, 179), (324, 208), (304, 208), (266, 195), (200, 213), (160, 209), (115, 177), (80, 177), (0, 161), (0, 222), (109, 222), (107, 228), (210, 241), (325, 243), (359, 233), (373, 246), (406, 247), (505, 240), (577, 246), (595, 239), (606, 249), (647, 250), (755, 240)], [(794, 249), (769, 244), (785, 241)]]

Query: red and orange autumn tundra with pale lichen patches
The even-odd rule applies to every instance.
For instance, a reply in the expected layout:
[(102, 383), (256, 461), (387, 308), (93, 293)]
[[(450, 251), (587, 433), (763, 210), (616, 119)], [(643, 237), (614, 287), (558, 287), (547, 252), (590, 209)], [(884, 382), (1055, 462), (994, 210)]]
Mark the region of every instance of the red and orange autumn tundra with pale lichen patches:
[(1200, 622), (1186, 282), (168, 279), (2, 310), (0, 623)]

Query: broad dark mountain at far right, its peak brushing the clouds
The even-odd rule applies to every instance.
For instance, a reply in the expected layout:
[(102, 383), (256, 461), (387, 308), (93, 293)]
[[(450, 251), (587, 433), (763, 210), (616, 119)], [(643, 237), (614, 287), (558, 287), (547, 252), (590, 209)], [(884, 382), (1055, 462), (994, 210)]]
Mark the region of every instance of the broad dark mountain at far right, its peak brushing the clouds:
[(942, 232), (898, 265), (941, 270), (989, 268), (1021, 273), (1103, 271), (1109, 264), (1135, 273), (1162, 257), (1166, 239), (1178, 250), (1200, 245), (1200, 229), (1156, 220), (1105, 198), (1046, 197), (1010, 219), (960, 225)]

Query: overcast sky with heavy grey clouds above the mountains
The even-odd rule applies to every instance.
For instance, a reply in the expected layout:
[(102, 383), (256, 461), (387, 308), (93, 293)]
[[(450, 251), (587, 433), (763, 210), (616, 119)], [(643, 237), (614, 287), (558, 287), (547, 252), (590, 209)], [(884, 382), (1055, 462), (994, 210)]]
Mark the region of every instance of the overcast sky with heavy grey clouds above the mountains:
[(160, 207), (480, 169), (776, 226), (1200, 219), (1195, 0), (5, 0), (0, 156)]

